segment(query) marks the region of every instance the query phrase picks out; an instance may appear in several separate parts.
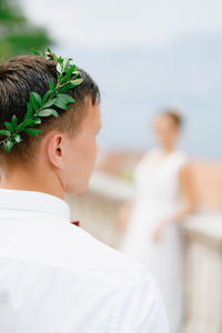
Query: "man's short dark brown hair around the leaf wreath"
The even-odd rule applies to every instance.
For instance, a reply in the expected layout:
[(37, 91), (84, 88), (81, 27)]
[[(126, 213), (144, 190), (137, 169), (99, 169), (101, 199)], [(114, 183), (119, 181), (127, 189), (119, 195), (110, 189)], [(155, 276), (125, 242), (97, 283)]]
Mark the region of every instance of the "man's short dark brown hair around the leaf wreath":
[[(23, 120), (27, 112), (30, 92), (37, 92), (41, 97), (49, 90), (49, 82), (57, 84), (57, 63), (53, 60), (47, 60), (41, 56), (19, 56), (0, 64), (0, 130), (4, 129), (4, 122), (11, 121), (13, 114), (18, 122)], [(33, 138), (24, 132), (20, 143), (14, 144), (11, 152), (4, 151), (3, 144), (0, 145), (0, 162), (6, 160), (20, 160), (26, 162), (33, 155), (33, 148), (42, 135), (46, 135), (52, 129), (60, 129), (70, 134), (77, 132), (78, 127), (83, 119), (84, 98), (89, 95), (92, 104), (100, 102), (100, 91), (92, 78), (82, 69), (79, 69), (83, 82), (69, 93), (75, 103), (69, 105), (69, 110), (57, 109), (60, 117), (53, 115), (42, 118), (42, 123), (38, 129), (42, 133)], [(2, 137), (1, 137), (2, 138)]]

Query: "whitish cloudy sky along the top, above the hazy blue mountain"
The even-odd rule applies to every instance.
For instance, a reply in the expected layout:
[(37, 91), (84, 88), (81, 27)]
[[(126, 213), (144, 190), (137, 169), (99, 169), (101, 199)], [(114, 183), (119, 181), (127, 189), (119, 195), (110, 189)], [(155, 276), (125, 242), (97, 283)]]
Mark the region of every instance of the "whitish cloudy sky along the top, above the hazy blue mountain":
[(221, 0), (20, 0), (52, 37), (78, 47), (161, 48), (191, 34), (222, 33)]

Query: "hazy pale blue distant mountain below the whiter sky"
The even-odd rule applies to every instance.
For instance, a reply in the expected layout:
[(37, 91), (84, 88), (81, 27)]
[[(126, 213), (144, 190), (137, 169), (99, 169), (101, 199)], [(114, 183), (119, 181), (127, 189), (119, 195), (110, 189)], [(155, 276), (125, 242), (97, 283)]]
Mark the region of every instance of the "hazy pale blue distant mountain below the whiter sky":
[(164, 49), (80, 50), (60, 46), (102, 91), (103, 149), (154, 143), (152, 117), (178, 105), (190, 153), (222, 157), (222, 36), (188, 37)]

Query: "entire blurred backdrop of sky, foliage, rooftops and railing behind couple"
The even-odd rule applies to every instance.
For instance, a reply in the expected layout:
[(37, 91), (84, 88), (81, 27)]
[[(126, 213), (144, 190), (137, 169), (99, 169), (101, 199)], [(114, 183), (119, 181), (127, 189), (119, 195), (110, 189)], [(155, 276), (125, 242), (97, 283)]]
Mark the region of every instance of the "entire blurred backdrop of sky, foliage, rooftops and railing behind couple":
[[(0, 59), (50, 46), (100, 87), (101, 154), (72, 218), (120, 249), (118, 221), (133, 172), (155, 147), (153, 119), (178, 108), (198, 208), (184, 222), (184, 332), (222, 332), (222, 2), (0, 0)], [(125, 224), (128, 221), (125, 221)], [(201, 273), (200, 273), (201, 272)]]

